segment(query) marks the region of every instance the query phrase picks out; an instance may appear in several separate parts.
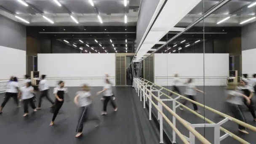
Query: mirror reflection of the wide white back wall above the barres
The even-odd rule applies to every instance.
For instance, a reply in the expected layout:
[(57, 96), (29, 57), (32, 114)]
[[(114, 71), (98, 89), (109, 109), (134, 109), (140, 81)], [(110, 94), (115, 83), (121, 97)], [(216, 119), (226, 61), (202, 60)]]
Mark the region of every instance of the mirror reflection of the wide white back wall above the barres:
[(205, 64), (203, 53), (155, 53), (155, 83), (159, 85), (172, 85), (175, 74), (183, 82), (195, 78), (195, 85), (204, 84), (203, 76), (205, 85), (226, 85), (228, 71), (228, 53), (205, 53)]

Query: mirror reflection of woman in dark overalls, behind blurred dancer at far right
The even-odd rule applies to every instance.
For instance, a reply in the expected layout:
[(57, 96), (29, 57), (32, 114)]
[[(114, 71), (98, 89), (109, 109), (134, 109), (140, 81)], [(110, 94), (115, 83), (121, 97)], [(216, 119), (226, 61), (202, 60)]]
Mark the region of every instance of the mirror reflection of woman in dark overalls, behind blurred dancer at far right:
[[(253, 97), (253, 90), (252, 90), (252, 88), (248, 85), (248, 83), (244, 79), (242, 79), (240, 81), (240, 84), (241, 85), (237, 87), (237, 90), (242, 91), (245, 96), (247, 96), (249, 99), (251, 99)], [(251, 101), (251, 103), (248, 104), (246, 102), (246, 99), (244, 99), (244, 104), (246, 105), (246, 107), (249, 108), (249, 111), (251, 112), (251, 115), (253, 116), (253, 120), (256, 121), (256, 115), (255, 115), (255, 111), (254, 111), (254, 103), (253, 103), (253, 101)]]

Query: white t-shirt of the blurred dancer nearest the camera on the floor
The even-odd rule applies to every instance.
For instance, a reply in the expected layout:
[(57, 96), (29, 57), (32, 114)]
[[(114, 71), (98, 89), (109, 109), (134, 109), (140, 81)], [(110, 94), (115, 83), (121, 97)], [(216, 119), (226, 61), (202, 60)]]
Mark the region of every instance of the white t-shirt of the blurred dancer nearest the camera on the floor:
[(92, 103), (92, 100), (90, 98), (91, 93), (89, 91), (79, 91), (77, 101), (79, 104), (79, 107), (85, 107)]

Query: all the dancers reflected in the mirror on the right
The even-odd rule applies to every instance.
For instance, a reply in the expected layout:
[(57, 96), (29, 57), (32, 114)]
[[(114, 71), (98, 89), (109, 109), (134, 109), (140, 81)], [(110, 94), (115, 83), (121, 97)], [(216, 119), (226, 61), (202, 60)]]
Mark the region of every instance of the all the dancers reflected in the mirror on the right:
[[(253, 97), (253, 93), (256, 91), (256, 74), (252, 75), (253, 77), (251, 79), (248, 79), (248, 74), (243, 74), (243, 77), (240, 79), (240, 83), (232, 83), (227, 85), (227, 98), (226, 102), (224, 104), (225, 109), (224, 112), (229, 112), (231, 115), (233, 115), (236, 119), (241, 120), (246, 123), (246, 119), (244, 117), (243, 111), (241, 109), (242, 105), (245, 105), (248, 107), (252, 117), (253, 121), (256, 121), (256, 114), (254, 109), (254, 102), (251, 100)], [(178, 74), (174, 76), (173, 80), (173, 92), (179, 93), (180, 89), (178, 84), (181, 83), (179, 80)], [(189, 99), (196, 101), (195, 96), (196, 92), (199, 91), (201, 93), (204, 93), (203, 91), (198, 90), (195, 85), (192, 84), (192, 79), (190, 78), (187, 80), (186, 83), (186, 90), (184, 92), (185, 96)], [(170, 94), (170, 96), (173, 93)], [(187, 100), (184, 100), (181, 102), (181, 104), (185, 105), (187, 104)], [(197, 108), (197, 104), (193, 104), (193, 108), (195, 112), (200, 113)], [(183, 110), (182, 107), (179, 107), (180, 110)], [(238, 126), (238, 130), (248, 134), (246, 131), (246, 128), (242, 125)]]

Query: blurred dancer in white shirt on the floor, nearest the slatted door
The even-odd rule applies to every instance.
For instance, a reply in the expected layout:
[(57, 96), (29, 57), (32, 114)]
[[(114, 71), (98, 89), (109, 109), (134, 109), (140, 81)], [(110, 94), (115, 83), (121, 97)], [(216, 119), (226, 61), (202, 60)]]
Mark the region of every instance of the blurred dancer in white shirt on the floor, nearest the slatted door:
[[(106, 84), (104, 85), (103, 90), (99, 91), (97, 94), (99, 95), (100, 93), (103, 93), (103, 97), (104, 97), (103, 112), (101, 115), (107, 115), (107, 104), (108, 104), (109, 100), (111, 99), (111, 96), (113, 96), (112, 86), (108, 79), (106, 79)], [(117, 106), (115, 104), (115, 101), (111, 101), (111, 104), (114, 107), (115, 112), (116, 112)]]

